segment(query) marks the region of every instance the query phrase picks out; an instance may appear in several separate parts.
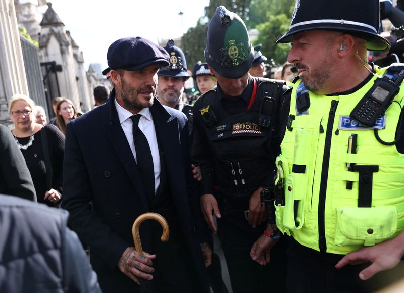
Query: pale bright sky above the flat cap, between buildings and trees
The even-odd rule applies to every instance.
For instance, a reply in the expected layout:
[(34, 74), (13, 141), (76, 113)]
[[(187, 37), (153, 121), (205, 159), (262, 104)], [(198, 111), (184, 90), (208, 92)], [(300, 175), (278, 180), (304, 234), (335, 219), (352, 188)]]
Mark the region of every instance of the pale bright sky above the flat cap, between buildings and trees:
[[(107, 68), (107, 50), (122, 37), (141, 36), (157, 43), (178, 38), (194, 27), (209, 0), (51, 0), (52, 7), (84, 55), (84, 68)], [(182, 12), (182, 17), (178, 15)]]

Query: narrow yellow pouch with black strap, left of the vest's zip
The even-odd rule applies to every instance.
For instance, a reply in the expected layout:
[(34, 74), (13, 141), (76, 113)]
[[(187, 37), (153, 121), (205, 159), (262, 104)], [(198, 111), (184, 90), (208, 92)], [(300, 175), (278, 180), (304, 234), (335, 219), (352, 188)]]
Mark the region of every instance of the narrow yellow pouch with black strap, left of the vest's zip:
[(285, 183), (285, 209), (282, 224), (290, 231), (301, 229), (305, 214), (304, 198), (296, 196), (294, 180), (294, 174), (289, 174)]

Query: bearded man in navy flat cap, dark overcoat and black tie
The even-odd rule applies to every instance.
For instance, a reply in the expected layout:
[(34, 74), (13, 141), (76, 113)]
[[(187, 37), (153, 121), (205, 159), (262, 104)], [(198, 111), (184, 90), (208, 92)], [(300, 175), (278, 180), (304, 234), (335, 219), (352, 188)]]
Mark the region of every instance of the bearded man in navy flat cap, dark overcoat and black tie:
[[(141, 37), (112, 43), (108, 102), (66, 129), (63, 207), (90, 247), (103, 292), (209, 292), (195, 238), (196, 202), (187, 190), (187, 120), (155, 99), (157, 72), (168, 59)], [(160, 224), (144, 222), (141, 255), (132, 225), (145, 212), (162, 215), (170, 236), (161, 242)]]

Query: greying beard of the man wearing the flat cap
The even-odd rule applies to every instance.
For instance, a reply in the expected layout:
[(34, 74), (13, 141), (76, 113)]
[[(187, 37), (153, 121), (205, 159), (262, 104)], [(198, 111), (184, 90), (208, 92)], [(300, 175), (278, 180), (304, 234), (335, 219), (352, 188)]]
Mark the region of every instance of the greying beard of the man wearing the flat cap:
[(142, 103), (139, 100), (138, 95), (142, 92), (153, 92), (153, 96), (156, 94), (156, 88), (154, 86), (143, 86), (138, 89), (129, 86), (122, 80), (121, 87), (121, 99), (128, 110), (141, 110), (153, 105), (153, 97), (151, 97), (148, 103)]

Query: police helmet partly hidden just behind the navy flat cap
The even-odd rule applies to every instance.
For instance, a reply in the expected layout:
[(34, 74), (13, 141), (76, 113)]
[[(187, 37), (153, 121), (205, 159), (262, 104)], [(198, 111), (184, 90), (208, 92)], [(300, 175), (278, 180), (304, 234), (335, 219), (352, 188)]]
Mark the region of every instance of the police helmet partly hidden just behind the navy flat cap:
[(182, 50), (174, 45), (174, 40), (170, 39), (164, 49), (170, 55), (170, 65), (162, 67), (157, 75), (170, 77), (183, 77), (184, 81), (190, 77), (187, 71), (185, 55)]

